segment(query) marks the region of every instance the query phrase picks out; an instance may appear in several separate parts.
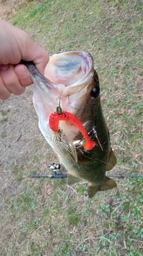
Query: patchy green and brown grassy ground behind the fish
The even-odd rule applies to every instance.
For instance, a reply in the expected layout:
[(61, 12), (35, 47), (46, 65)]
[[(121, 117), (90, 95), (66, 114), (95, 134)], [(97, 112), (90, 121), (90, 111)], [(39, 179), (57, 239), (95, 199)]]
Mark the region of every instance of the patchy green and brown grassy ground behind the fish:
[[(118, 160), (110, 174), (142, 174), (142, 13), (139, 0), (54, 0), (28, 1), (7, 16), (50, 54), (93, 56)], [(91, 200), (86, 183), (72, 186), (76, 194), (62, 179), (31, 179), (56, 161), (31, 102), (28, 88), (0, 103), (0, 255), (141, 256), (142, 179), (117, 179)]]

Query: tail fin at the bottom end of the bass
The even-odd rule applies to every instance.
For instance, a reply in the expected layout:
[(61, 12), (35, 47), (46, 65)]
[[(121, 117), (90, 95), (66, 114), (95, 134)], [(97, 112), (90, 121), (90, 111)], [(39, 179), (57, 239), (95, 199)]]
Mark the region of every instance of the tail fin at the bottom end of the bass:
[(93, 186), (91, 185), (88, 189), (88, 195), (89, 198), (94, 197), (94, 195), (97, 193), (97, 191), (104, 191), (104, 190), (108, 190), (108, 189), (112, 189), (113, 187), (116, 187), (117, 184), (114, 180), (105, 177), (105, 181), (102, 185), (100, 186)]

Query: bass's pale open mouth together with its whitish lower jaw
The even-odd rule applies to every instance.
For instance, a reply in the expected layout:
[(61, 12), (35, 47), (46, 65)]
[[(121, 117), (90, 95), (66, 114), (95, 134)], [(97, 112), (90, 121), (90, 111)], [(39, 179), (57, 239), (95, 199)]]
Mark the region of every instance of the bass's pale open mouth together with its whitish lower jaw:
[[(60, 105), (62, 111), (74, 114), (84, 126), (89, 119), (81, 118), (82, 106), (88, 100), (94, 79), (93, 58), (88, 52), (74, 51), (50, 56), (44, 76), (32, 76), (34, 81), (33, 104), (39, 117), (40, 130), (50, 134), (49, 116)], [(93, 86), (93, 85), (92, 85)], [(79, 111), (80, 109), (80, 111)], [(65, 121), (60, 127), (73, 140), (78, 128)], [(48, 130), (47, 130), (48, 129)]]

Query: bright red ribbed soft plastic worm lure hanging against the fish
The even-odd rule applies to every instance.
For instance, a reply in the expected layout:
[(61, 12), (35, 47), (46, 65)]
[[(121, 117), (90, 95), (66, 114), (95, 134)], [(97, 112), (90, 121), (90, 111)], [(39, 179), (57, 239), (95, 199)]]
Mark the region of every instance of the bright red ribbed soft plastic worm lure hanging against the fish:
[(88, 133), (85, 130), (83, 124), (78, 120), (78, 118), (75, 115), (67, 111), (63, 111), (62, 114), (57, 114), (56, 112), (52, 113), (49, 117), (49, 126), (50, 129), (55, 133), (58, 133), (59, 131), (59, 121), (68, 121), (76, 125), (85, 138), (85, 142), (83, 143), (84, 148), (86, 148), (86, 150), (92, 150), (96, 142), (92, 141), (89, 138)]

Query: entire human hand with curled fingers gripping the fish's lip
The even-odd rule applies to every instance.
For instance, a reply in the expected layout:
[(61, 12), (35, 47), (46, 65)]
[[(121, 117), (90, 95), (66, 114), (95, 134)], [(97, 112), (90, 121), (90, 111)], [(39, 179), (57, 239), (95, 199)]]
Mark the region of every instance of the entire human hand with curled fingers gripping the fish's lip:
[(0, 99), (21, 95), (33, 83), (27, 68), (18, 64), (21, 59), (33, 61), (44, 75), (49, 55), (24, 31), (0, 20)]

